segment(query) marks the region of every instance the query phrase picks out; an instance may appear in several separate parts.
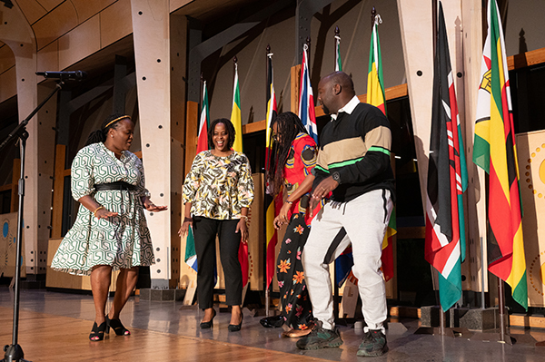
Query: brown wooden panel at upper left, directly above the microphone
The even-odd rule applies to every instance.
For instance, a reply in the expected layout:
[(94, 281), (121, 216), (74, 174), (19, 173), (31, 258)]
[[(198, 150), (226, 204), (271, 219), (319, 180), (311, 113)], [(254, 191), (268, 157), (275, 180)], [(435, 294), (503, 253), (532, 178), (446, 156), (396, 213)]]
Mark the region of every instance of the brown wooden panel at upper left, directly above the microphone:
[(80, 24), (59, 38), (59, 68), (65, 69), (100, 50), (100, 16)]

